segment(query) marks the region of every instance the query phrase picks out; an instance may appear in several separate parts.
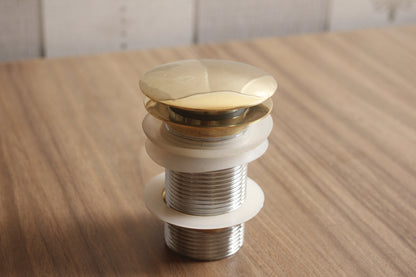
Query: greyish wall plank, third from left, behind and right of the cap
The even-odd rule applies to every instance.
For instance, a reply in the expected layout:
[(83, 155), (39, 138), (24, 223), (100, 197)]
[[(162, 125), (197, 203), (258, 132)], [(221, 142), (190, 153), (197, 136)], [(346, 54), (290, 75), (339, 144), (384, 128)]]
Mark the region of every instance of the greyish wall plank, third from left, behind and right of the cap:
[(323, 31), (327, 11), (328, 0), (200, 0), (197, 41)]

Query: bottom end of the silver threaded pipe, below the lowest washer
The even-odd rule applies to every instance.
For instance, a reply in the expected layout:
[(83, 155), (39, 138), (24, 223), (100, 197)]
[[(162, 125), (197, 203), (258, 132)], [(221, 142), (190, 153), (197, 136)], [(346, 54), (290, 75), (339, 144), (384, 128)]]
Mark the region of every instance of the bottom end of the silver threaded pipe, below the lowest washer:
[(229, 228), (196, 230), (165, 223), (165, 241), (173, 251), (197, 260), (219, 260), (235, 254), (244, 241), (244, 223)]

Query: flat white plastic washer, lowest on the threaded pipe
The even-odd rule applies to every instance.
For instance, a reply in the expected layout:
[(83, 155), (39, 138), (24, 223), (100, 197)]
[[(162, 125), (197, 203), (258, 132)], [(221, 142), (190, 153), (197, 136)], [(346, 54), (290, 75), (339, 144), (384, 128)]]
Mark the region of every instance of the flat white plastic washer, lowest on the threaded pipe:
[(236, 210), (214, 216), (195, 216), (178, 212), (163, 200), (165, 174), (161, 173), (147, 183), (144, 190), (144, 202), (147, 208), (160, 220), (167, 223), (200, 230), (227, 228), (244, 223), (253, 218), (263, 207), (264, 193), (260, 186), (247, 178), (247, 198)]

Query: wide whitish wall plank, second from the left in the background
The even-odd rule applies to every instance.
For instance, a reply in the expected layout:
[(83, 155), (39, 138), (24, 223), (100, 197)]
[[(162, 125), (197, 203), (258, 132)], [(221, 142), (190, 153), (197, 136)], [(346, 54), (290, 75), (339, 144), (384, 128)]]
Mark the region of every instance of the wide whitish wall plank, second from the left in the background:
[(192, 0), (43, 0), (46, 56), (189, 44)]

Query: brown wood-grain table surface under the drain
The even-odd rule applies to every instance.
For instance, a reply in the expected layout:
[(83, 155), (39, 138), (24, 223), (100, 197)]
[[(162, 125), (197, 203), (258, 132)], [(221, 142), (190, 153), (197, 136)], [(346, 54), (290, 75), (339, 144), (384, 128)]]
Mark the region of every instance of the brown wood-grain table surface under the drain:
[[(279, 82), (263, 210), (196, 262), (143, 203), (138, 79), (232, 59)], [(416, 26), (0, 65), (0, 276), (416, 276)]]

